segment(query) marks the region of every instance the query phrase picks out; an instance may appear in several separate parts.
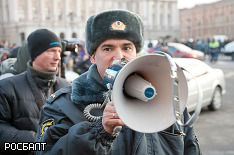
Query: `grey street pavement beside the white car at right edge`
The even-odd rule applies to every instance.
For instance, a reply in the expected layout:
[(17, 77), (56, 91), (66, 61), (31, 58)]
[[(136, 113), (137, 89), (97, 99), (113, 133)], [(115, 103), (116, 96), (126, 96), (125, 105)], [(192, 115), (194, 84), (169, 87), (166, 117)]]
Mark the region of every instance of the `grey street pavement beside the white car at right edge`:
[(224, 71), (226, 94), (218, 111), (203, 109), (194, 127), (203, 155), (234, 155), (234, 62), (221, 56), (210, 66)]

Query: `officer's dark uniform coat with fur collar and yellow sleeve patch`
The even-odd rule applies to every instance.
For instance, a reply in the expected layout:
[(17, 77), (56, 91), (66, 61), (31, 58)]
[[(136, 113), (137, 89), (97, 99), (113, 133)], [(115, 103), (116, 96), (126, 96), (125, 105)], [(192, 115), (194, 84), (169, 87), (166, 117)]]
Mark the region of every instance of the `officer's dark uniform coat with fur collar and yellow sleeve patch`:
[[(101, 120), (87, 121), (83, 109), (90, 103), (102, 103), (106, 91), (96, 65), (92, 65), (88, 72), (73, 81), (72, 88), (60, 89), (49, 98), (41, 111), (37, 132), (37, 141), (46, 142), (46, 150), (37, 154), (200, 154), (193, 128), (181, 128), (174, 124), (174, 130), (170, 127), (162, 132), (144, 134), (123, 126), (120, 134), (113, 137), (103, 129)], [(184, 120), (188, 118), (185, 111)]]

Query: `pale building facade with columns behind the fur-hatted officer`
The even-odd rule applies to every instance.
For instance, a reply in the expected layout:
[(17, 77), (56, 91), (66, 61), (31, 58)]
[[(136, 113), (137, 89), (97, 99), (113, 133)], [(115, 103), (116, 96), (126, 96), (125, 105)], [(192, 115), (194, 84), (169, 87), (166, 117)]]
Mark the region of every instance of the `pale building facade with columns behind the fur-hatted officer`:
[(110, 9), (138, 13), (145, 39), (179, 34), (177, 0), (0, 0), (0, 40), (20, 45), (37, 28), (84, 40), (88, 17)]

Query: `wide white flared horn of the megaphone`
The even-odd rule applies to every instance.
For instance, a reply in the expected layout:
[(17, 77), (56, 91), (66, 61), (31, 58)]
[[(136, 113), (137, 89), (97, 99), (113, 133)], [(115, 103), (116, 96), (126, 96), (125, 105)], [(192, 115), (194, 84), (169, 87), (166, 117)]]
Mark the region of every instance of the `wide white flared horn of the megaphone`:
[[(137, 78), (133, 75), (137, 75)], [(123, 66), (114, 79), (112, 101), (125, 125), (135, 131), (153, 133), (176, 122), (171, 76), (171, 64), (168, 58), (161, 54), (140, 56)], [(141, 78), (138, 79), (139, 77)], [(182, 114), (187, 102), (188, 86), (183, 71), (178, 66), (177, 84), (179, 113)], [(137, 85), (137, 90), (143, 90), (140, 93), (133, 90), (132, 86)], [(149, 99), (144, 95), (147, 88), (152, 89)], [(134, 95), (131, 92), (136, 93)]]

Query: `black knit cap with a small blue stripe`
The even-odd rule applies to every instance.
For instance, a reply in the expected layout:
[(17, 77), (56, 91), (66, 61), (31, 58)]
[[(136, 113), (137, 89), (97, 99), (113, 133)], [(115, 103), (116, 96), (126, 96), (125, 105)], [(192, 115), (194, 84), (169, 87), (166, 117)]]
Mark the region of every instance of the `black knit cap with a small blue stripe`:
[(28, 51), (32, 61), (41, 53), (52, 47), (61, 47), (62, 44), (56, 34), (47, 29), (38, 29), (28, 36)]

